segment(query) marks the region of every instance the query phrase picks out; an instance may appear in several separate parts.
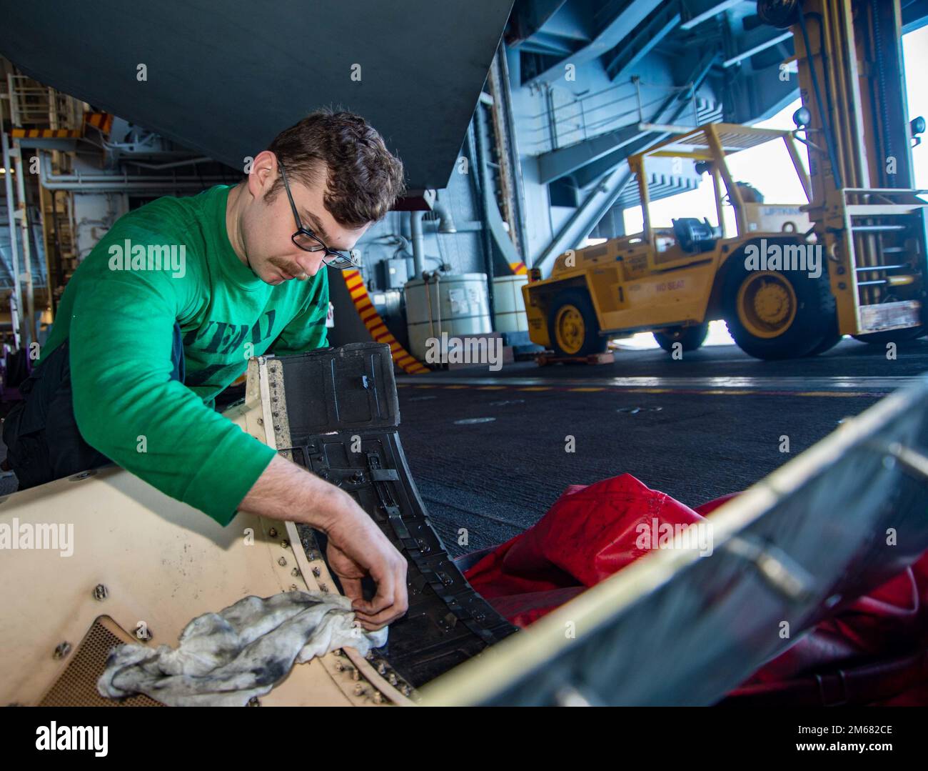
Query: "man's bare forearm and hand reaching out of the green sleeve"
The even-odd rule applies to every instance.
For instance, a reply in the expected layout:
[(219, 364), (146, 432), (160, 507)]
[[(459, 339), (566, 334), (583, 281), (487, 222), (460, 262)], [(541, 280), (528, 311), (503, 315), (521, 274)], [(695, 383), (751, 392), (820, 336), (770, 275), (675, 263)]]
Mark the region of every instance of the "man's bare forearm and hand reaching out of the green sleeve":
[[(380, 629), (406, 613), (406, 559), (344, 490), (277, 456), (238, 509), (304, 522), (325, 532), (329, 568), (365, 629)], [(361, 592), (361, 580), (368, 575), (377, 585), (377, 594), (370, 600)]]

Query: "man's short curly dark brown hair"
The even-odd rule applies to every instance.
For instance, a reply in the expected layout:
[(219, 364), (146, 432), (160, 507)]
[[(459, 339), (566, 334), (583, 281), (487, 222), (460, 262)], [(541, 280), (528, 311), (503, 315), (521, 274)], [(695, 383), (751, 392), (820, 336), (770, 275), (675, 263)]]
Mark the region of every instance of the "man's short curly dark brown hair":
[[(345, 228), (382, 219), (406, 191), (403, 163), (354, 112), (330, 108), (312, 112), (281, 131), (268, 150), (284, 164), (288, 177), (305, 184), (315, 184), (328, 169), (323, 203)], [(265, 203), (272, 203), (282, 188), (278, 175)]]

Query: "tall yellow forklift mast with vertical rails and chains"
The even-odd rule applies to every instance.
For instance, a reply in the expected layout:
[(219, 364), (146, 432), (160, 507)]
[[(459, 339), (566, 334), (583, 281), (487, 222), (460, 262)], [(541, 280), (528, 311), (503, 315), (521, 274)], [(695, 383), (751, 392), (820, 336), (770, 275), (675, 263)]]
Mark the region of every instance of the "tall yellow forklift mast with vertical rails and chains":
[(758, 0), (791, 27), (809, 148), (807, 207), (844, 334), (925, 324), (926, 229), (912, 171), (899, 0)]

